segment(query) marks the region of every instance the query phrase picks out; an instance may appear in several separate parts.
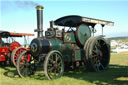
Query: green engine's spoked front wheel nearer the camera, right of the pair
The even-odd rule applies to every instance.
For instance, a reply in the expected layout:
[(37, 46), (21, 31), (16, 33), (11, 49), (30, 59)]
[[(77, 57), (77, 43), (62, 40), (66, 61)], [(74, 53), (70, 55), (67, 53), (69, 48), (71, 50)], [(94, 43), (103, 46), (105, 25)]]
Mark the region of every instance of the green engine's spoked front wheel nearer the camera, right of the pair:
[(59, 51), (51, 51), (45, 58), (44, 73), (50, 79), (57, 79), (63, 75), (64, 60)]

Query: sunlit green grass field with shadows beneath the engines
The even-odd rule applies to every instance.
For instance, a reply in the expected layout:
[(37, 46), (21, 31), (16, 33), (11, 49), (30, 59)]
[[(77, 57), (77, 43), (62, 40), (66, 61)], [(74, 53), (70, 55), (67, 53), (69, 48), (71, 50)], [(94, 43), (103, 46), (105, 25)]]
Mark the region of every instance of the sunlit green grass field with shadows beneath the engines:
[(47, 80), (44, 74), (19, 78), (14, 67), (0, 67), (0, 85), (128, 85), (128, 54), (111, 54), (109, 68), (101, 73), (76, 69)]

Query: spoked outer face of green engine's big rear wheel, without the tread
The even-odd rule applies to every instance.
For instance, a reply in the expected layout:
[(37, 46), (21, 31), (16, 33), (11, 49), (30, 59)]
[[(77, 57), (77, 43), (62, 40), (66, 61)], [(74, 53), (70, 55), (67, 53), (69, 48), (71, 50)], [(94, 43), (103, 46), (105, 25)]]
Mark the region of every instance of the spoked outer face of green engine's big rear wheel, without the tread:
[(91, 64), (97, 72), (103, 71), (109, 63), (109, 48), (102, 39), (95, 40), (91, 45)]

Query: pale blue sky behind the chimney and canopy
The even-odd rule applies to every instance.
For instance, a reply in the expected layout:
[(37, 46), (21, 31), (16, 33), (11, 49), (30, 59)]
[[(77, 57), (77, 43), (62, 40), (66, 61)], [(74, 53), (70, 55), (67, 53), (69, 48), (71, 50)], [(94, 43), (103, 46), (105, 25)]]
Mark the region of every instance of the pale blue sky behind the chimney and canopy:
[[(128, 36), (128, 0), (0, 0), (0, 30), (34, 33), (37, 29), (36, 4), (44, 7), (44, 30), (49, 28), (51, 20), (80, 15), (113, 21), (114, 26), (104, 27), (106, 37)], [(101, 26), (95, 28), (96, 35), (101, 34)]]

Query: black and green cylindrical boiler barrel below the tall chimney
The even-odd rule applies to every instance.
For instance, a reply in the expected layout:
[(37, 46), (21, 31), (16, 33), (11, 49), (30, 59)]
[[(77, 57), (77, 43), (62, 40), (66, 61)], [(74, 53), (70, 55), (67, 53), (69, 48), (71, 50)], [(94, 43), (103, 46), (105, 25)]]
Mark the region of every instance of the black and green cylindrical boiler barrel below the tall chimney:
[(30, 52), (33, 56), (39, 56), (40, 54), (47, 54), (51, 50), (62, 51), (62, 47), (63, 44), (61, 40), (35, 38), (30, 44)]

